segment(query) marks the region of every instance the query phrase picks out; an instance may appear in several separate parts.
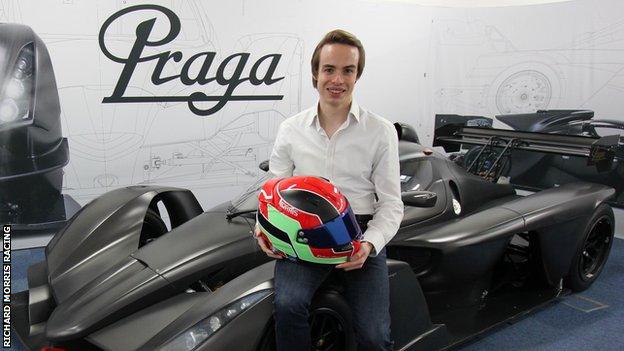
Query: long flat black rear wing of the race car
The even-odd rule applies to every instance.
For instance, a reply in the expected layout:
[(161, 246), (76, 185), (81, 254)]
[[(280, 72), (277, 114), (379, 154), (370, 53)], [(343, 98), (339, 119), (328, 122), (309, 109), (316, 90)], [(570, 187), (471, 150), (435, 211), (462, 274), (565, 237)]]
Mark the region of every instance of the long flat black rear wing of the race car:
[(526, 150), (587, 158), (588, 165), (598, 171), (610, 169), (615, 157), (622, 158), (619, 135), (605, 137), (575, 136), (538, 132), (523, 132), (494, 128), (447, 125), (436, 130), (434, 146), (449, 144), (480, 145), (496, 148), (503, 153)]

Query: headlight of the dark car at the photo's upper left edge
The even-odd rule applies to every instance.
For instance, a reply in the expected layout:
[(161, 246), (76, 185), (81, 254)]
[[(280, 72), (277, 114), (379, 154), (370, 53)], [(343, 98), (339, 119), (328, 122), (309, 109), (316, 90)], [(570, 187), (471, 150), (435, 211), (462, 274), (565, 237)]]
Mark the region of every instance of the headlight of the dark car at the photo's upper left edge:
[(0, 91), (0, 127), (30, 119), (34, 76), (34, 44), (25, 45)]

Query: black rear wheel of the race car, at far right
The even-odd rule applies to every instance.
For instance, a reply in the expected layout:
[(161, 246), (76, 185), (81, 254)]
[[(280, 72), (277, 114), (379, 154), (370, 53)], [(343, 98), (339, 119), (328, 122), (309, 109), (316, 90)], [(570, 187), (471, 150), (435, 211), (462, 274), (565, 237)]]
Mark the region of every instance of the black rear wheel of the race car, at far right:
[(614, 236), (613, 210), (607, 204), (598, 206), (585, 228), (583, 242), (574, 255), (566, 287), (583, 291), (598, 278), (609, 257)]

